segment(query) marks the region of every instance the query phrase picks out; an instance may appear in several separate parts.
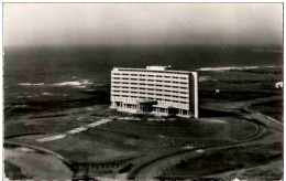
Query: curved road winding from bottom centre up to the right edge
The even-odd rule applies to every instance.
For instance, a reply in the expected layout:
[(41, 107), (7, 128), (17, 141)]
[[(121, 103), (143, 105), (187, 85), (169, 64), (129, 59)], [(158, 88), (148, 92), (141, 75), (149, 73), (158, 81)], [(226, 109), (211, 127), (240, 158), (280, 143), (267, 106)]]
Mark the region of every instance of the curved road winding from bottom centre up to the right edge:
[[(251, 106), (252, 104), (256, 104), (257, 102), (258, 103), (271, 102), (276, 98), (277, 97), (268, 97), (268, 98), (249, 100), (248, 104), (242, 104), (242, 103), (238, 104), (239, 106), (237, 108), (245, 109), (246, 107)], [(229, 111), (229, 110), (227, 110), (227, 111)], [(282, 129), (277, 129), (277, 126), (274, 126), (274, 128), (273, 128), (273, 124), (274, 125), (278, 124), (278, 127), (280, 127), (280, 125), (283, 125), (283, 124), (280, 124), (278, 121), (274, 121), (271, 117), (267, 117), (260, 113), (251, 113), (251, 110), (248, 110), (248, 109), (246, 109), (246, 111), (249, 111), (250, 114), (240, 114), (240, 116), (243, 116), (243, 117), (250, 118), (250, 119), (255, 119), (262, 124), (262, 126), (257, 125), (260, 128), (260, 131), (256, 135), (254, 135), (252, 138), (243, 140), (243, 141), (239, 141), (239, 142), (227, 143), (227, 145), (207, 146), (207, 147), (200, 147), (200, 148), (194, 148), (194, 149), (182, 148), (182, 150), (178, 151), (177, 153), (173, 153), (168, 157), (164, 156), (162, 158), (156, 158), (155, 160), (151, 160), (151, 161), (135, 168), (133, 171), (131, 171), (129, 173), (128, 179), (129, 180), (156, 180), (155, 177), (160, 175), (163, 170), (179, 163), (186, 157), (196, 157), (196, 156), (199, 156), (207, 151), (211, 151), (213, 149), (217, 150), (217, 149), (224, 149), (224, 148), (234, 147), (234, 146), (237, 147), (237, 146), (249, 145), (249, 143), (252, 143), (260, 139), (265, 138), (265, 136), (271, 135), (273, 131), (271, 131), (270, 129), (272, 129), (274, 131), (279, 131), (279, 132), (283, 130), (283, 127), (282, 127)], [(270, 124), (270, 123), (272, 123), (272, 124)], [(201, 152), (201, 150), (204, 150), (205, 152)]]

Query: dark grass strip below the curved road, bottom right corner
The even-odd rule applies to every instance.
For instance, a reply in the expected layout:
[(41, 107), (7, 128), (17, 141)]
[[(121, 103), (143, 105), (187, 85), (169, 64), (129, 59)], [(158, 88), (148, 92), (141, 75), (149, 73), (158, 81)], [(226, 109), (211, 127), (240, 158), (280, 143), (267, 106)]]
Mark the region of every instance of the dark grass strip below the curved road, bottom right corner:
[[(186, 159), (165, 170), (160, 179), (182, 180), (199, 178), (206, 174), (216, 174), (237, 169), (246, 169), (266, 164), (273, 160), (282, 159), (282, 143), (256, 143), (244, 147), (233, 147), (202, 153), (200, 157)], [(210, 177), (213, 179), (213, 177)], [(215, 179), (221, 179), (217, 177)], [(234, 178), (231, 178), (234, 179)], [(276, 179), (280, 179), (280, 175)]]

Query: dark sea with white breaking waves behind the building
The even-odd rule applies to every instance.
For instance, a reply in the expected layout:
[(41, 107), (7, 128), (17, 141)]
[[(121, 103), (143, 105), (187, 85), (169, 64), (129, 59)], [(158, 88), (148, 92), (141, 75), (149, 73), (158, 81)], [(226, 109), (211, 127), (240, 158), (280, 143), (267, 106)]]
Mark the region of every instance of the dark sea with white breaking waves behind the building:
[[(226, 85), (230, 83), (228, 81), (239, 84), (251, 82), (265, 86), (283, 81), (283, 47), (278, 45), (6, 47), (3, 65), (4, 119), (8, 121), (19, 115), (56, 113), (92, 104), (109, 104), (110, 71), (113, 67), (144, 68), (148, 65), (170, 65), (174, 70), (198, 71), (202, 89), (218, 87), (221, 91), (227, 89), (229, 86)], [(262, 72), (255, 70), (264, 71), (261, 74)], [(235, 74), (230, 76), (221, 74), (226, 72)], [(226, 84), (220, 86), (222, 84), (215, 82)]]

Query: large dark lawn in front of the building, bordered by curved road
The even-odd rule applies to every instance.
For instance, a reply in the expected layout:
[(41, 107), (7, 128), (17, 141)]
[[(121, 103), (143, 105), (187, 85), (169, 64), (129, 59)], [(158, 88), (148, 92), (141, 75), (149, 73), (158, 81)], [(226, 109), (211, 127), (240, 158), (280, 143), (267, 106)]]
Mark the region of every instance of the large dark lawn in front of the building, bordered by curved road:
[[(102, 162), (136, 157), (152, 150), (177, 148), (184, 143), (198, 147), (239, 141), (255, 135), (257, 131), (255, 125), (239, 118), (177, 119), (172, 121), (116, 119), (63, 139), (47, 142), (36, 141), (36, 139), (87, 124), (85, 119), (81, 120), (82, 123), (64, 121), (65, 117), (61, 118), (63, 123), (57, 120), (59, 118), (52, 119), (34, 118), (29, 120), (32, 125), (7, 126), (12, 132), (15, 130), (18, 132), (19, 130), (20, 132), (33, 132), (34, 129), (40, 128), (43, 130), (40, 135), (11, 137), (8, 140), (52, 150), (72, 162)], [(32, 120), (33, 123), (31, 123)], [(46, 127), (47, 125), (48, 127)]]

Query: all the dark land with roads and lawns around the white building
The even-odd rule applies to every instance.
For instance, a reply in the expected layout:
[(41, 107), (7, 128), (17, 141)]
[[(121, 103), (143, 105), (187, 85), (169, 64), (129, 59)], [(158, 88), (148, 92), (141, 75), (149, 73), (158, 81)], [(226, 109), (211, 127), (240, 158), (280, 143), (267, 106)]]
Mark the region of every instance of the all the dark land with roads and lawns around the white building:
[[(282, 92), (273, 88), (277, 74), (209, 74), (216, 81), (200, 85), (199, 119), (117, 113), (103, 103), (14, 116), (4, 124), (7, 177), (282, 179)], [(106, 118), (111, 121), (87, 128)], [(76, 128), (87, 129), (66, 134)], [(38, 141), (61, 134), (66, 135)]]

